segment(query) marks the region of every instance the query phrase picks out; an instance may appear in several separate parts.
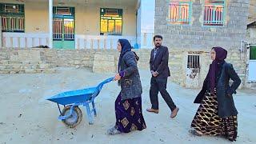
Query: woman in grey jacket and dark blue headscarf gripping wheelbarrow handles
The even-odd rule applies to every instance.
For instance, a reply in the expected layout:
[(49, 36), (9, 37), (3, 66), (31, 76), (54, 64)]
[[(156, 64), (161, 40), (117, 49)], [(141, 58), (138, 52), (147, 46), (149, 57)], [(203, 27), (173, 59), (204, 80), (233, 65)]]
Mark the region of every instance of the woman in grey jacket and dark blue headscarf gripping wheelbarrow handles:
[(118, 80), (121, 92), (115, 101), (115, 125), (107, 130), (108, 134), (129, 133), (132, 130), (146, 129), (142, 115), (142, 83), (138, 73), (138, 56), (131, 51), (130, 42), (126, 39), (118, 40), (120, 52)]

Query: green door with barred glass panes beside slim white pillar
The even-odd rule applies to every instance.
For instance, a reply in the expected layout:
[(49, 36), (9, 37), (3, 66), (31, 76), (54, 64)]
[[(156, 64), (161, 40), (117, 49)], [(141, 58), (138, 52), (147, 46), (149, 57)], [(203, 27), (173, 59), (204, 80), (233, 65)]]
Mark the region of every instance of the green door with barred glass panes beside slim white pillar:
[(74, 49), (74, 8), (55, 7), (53, 29), (54, 48)]

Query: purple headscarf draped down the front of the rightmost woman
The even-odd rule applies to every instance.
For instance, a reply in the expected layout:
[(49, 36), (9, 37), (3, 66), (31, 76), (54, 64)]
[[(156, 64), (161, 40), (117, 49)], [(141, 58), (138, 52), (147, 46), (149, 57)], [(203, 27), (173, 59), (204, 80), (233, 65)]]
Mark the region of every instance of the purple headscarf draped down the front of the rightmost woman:
[(214, 87), (216, 86), (216, 74), (218, 73), (218, 64), (225, 62), (227, 51), (222, 47), (213, 47), (212, 50), (216, 52), (216, 58), (210, 65), (210, 70), (208, 73), (210, 81), (210, 91), (214, 92)]

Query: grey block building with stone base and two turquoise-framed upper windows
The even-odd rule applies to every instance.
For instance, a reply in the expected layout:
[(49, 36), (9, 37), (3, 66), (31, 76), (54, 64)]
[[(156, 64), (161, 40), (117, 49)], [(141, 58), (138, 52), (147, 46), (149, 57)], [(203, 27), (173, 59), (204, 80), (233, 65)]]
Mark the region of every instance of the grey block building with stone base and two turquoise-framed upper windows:
[(251, 8), (253, 3), (250, 0), (156, 0), (155, 34), (163, 36), (163, 45), (170, 51), (182, 54), (170, 56), (174, 82), (190, 88), (202, 85), (210, 64), (209, 52), (214, 46), (228, 50), (227, 61), (234, 64), (243, 84), (255, 82), (256, 63), (252, 59), (248, 62), (248, 55), (255, 55), (254, 43), (246, 37), (247, 22), (256, 15)]

